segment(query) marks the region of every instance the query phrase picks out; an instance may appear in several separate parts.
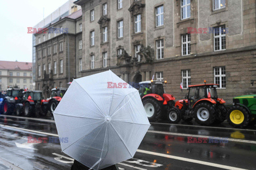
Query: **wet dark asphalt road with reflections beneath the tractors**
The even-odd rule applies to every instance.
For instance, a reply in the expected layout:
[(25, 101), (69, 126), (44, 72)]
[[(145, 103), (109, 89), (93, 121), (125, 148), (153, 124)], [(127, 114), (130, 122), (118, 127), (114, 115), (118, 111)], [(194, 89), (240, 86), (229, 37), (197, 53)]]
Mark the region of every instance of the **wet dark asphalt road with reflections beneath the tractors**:
[[(28, 143), (28, 138), (47, 138), (46, 143)], [(70, 169), (73, 159), (61, 152), (51, 116), (0, 117), (0, 170)], [(222, 141), (209, 143), (213, 137)], [(205, 143), (196, 143), (205, 139)], [(217, 139), (217, 138), (216, 138)], [(217, 140), (216, 140), (217, 142)], [(256, 169), (256, 126), (233, 129), (227, 122), (211, 127), (195, 122), (178, 125), (161, 121), (151, 127), (134, 159), (118, 164), (120, 169)]]

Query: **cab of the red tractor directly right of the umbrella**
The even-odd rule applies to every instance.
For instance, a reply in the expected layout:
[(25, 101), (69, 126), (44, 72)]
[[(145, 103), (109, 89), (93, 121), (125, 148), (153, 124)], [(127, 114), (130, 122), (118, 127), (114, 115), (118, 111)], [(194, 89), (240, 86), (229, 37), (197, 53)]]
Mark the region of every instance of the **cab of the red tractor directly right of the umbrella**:
[(159, 96), (163, 96), (164, 94), (164, 87), (163, 84), (166, 83), (166, 81), (143, 81), (140, 82), (140, 89), (139, 94), (142, 98), (145, 95), (148, 94), (156, 94)]

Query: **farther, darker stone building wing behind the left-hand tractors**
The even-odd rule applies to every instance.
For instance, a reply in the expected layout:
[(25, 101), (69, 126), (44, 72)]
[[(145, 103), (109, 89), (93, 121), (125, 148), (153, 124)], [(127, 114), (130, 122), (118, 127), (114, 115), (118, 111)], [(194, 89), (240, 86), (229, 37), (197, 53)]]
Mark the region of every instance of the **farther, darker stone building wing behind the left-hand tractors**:
[[(82, 11), (78, 10), (36, 33), (36, 89), (44, 97), (55, 87), (68, 87), (77, 77), (77, 56), (81, 56)], [(82, 43), (80, 43), (82, 45)]]

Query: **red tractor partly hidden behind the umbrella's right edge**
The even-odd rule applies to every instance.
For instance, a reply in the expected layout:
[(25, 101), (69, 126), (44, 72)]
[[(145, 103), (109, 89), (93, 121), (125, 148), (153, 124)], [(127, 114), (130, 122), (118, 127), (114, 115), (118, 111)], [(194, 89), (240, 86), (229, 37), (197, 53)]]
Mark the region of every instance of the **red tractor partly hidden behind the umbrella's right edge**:
[[(139, 83), (140, 97), (149, 121), (156, 121), (161, 117), (165, 118), (168, 109), (172, 108), (175, 104), (175, 98), (170, 94), (165, 94), (164, 83), (166, 83), (166, 81), (153, 80)], [(179, 115), (173, 115), (171, 120), (169, 118), (169, 121), (179, 121), (178, 116)]]

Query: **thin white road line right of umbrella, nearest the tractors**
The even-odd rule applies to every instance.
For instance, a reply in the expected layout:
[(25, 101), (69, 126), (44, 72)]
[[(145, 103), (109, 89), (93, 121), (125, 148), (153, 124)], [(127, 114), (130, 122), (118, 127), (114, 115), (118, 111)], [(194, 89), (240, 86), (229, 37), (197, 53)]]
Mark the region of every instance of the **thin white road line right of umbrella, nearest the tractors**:
[[(172, 132), (161, 132), (161, 131), (148, 131), (149, 133), (158, 133), (158, 134), (169, 134), (169, 135), (177, 135), (182, 137), (195, 137), (195, 138), (215, 138), (218, 139), (220, 137), (211, 137), (211, 136), (204, 136), (204, 135), (197, 135), (197, 134), (185, 134), (185, 133), (172, 133)], [(222, 139), (233, 141), (233, 142), (243, 142), (243, 143), (253, 143), (256, 144), (256, 141), (253, 140), (242, 140), (242, 139), (233, 139), (233, 138), (225, 138)]]

